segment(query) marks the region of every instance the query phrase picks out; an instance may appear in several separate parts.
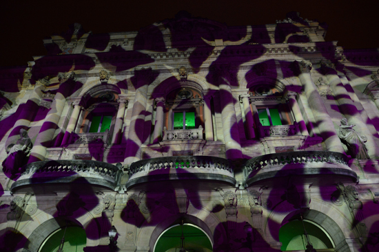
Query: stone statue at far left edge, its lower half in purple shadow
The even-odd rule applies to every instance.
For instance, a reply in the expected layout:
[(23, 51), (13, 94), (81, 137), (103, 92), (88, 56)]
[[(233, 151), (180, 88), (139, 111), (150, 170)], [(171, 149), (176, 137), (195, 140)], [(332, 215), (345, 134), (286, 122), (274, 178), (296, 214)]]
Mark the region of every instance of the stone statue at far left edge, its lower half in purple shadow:
[(19, 168), (28, 161), (32, 147), (33, 144), (28, 136), (28, 131), (21, 128), (20, 138), (16, 144), (10, 144), (6, 149), (8, 157), (3, 161), (4, 172), (6, 174), (12, 174), (12, 177), (15, 176), (15, 174), (19, 172)]

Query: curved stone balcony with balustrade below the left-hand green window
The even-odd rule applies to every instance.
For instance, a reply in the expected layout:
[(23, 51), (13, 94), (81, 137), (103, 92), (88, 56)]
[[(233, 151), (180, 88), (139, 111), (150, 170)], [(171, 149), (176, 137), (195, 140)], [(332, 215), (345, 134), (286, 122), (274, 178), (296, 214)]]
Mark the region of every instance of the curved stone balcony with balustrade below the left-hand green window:
[[(11, 192), (36, 191), (54, 192), (59, 187), (79, 187), (85, 190), (85, 185), (119, 190), (123, 172), (110, 163), (91, 160), (58, 160), (28, 163), (25, 172), (12, 184)], [(36, 186), (34, 186), (36, 185)], [(43, 186), (41, 186), (43, 185)]]

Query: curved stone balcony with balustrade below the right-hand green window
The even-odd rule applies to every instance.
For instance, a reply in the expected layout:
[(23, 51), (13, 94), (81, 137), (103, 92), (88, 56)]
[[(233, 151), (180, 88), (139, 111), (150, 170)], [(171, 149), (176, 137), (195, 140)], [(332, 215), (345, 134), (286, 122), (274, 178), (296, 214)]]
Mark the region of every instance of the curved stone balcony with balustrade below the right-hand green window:
[[(329, 151), (298, 151), (265, 154), (249, 159), (243, 165), (245, 184), (252, 185), (258, 182), (265, 183), (265, 179), (272, 179), (270, 183), (288, 183), (283, 176), (301, 176), (305, 183), (323, 183), (331, 177), (335, 181), (356, 182), (357, 174), (347, 165), (345, 154)], [(309, 176), (308, 176), (309, 175)], [(280, 178), (277, 181), (273, 178)], [(300, 177), (298, 177), (300, 179)]]

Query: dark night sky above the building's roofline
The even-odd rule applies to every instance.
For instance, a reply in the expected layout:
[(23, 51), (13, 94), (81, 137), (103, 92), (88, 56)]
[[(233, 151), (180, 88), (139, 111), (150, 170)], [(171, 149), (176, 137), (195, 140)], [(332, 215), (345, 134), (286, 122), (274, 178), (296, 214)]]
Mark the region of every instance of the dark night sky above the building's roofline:
[(274, 24), (296, 10), (304, 19), (327, 23), (327, 41), (348, 49), (379, 47), (379, 0), (14, 0), (1, 5), (0, 67), (26, 65), (32, 56), (45, 55), (43, 38), (61, 34), (70, 23), (94, 34), (138, 31), (179, 10), (229, 26)]

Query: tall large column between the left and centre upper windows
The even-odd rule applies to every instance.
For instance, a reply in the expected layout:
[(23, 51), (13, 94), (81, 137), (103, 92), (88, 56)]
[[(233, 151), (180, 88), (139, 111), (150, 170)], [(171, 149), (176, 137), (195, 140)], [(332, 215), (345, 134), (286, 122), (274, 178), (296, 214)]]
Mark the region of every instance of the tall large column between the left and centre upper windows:
[(124, 164), (130, 165), (141, 159), (141, 146), (145, 126), (145, 113), (147, 104), (147, 87), (152, 82), (152, 69), (134, 71), (134, 82), (136, 82), (136, 95), (132, 108), (129, 132), (127, 134)]

